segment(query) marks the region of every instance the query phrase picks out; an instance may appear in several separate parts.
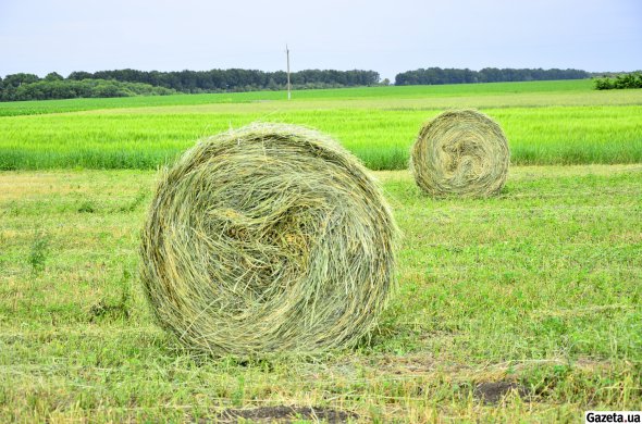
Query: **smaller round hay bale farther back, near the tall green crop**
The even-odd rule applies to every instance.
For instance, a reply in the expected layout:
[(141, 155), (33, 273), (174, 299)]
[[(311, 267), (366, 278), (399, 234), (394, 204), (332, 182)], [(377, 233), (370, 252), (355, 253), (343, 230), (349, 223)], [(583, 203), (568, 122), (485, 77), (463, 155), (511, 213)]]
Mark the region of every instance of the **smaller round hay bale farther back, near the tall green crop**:
[(506, 183), (510, 153), (499, 125), (473, 110), (447, 111), (424, 124), (412, 146), (417, 185), (434, 197), (489, 197)]

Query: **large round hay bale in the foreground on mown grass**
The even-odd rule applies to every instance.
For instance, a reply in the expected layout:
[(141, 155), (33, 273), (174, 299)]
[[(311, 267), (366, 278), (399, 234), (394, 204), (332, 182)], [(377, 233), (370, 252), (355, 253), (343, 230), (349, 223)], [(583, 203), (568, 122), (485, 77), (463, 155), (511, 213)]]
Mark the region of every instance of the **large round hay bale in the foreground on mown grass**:
[(396, 234), (382, 190), (338, 144), (255, 124), (163, 172), (141, 280), (160, 325), (194, 351), (349, 347), (386, 304)]

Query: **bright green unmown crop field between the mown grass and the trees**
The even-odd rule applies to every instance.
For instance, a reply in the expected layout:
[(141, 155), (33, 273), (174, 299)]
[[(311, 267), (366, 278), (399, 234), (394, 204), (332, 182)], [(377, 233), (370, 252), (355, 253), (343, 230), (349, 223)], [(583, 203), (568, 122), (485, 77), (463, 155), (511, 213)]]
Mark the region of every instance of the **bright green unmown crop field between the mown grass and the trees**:
[[(254, 121), (312, 126), (372, 170), (402, 170), (421, 124), (465, 107), (503, 126), (513, 164), (642, 161), (642, 90), (595, 91), (590, 80), (308, 90), (276, 100), (283, 96), (0, 103), (0, 170), (156, 169), (197, 138)], [(78, 109), (88, 110), (58, 113)]]

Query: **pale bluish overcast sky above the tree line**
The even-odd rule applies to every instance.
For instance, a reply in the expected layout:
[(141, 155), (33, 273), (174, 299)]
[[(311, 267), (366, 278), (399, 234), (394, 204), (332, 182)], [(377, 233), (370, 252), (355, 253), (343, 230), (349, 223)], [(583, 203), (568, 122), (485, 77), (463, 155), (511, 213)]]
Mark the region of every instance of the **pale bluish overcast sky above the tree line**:
[(640, 0), (0, 0), (0, 75), (642, 68)]

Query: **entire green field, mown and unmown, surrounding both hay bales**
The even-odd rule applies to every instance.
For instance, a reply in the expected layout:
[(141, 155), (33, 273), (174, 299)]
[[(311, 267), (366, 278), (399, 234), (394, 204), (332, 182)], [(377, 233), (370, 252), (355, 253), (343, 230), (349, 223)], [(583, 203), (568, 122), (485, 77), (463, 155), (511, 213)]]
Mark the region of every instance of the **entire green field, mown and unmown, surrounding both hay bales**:
[[(349, 422), (583, 422), (640, 409), (642, 90), (577, 80), (284, 98), (0, 103), (0, 422), (206, 422), (276, 407)], [(409, 147), (453, 108), (504, 128), (501, 196), (433, 200), (415, 186)], [(404, 234), (399, 291), (355, 350), (195, 357), (153, 323), (137, 249), (156, 170), (254, 121), (325, 132), (382, 183)]]

